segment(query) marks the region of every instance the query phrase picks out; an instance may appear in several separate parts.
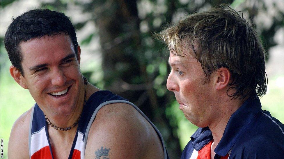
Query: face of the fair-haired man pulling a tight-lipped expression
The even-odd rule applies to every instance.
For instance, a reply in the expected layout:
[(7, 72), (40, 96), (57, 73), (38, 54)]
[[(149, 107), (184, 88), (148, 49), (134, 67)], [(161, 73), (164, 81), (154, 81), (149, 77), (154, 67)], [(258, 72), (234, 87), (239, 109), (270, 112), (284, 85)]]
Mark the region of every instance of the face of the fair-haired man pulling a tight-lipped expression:
[(185, 117), (198, 127), (207, 127), (216, 115), (212, 105), (214, 80), (208, 81), (201, 63), (190, 56), (170, 52), (167, 88), (175, 93)]

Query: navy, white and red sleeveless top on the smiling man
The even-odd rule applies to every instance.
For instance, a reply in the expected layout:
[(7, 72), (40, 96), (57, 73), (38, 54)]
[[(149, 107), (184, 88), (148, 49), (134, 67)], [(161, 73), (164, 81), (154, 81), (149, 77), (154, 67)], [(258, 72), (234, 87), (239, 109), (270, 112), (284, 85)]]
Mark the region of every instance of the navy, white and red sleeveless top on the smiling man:
[[(168, 154), (166, 152), (164, 140), (161, 133), (155, 127), (155, 125), (145, 116), (145, 114), (141, 112), (138, 107), (136, 107), (128, 100), (122, 98), (121, 96), (111, 93), (110, 91), (97, 91), (90, 96), (82, 110), (77, 127), (77, 132), (73, 140), (73, 144), (68, 157), (69, 159), (84, 158), (88, 133), (90, 131), (90, 127), (96, 117), (97, 112), (104, 105), (112, 103), (126, 103), (136, 108), (136, 110), (140, 112), (154, 127), (164, 149), (164, 158), (168, 158)], [(31, 159), (53, 159), (53, 152), (49, 142), (47, 127), (48, 125), (42, 110), (38, 107), (37, 104), (35, 104), (32, 108), (29, 127), (29, 155)]]

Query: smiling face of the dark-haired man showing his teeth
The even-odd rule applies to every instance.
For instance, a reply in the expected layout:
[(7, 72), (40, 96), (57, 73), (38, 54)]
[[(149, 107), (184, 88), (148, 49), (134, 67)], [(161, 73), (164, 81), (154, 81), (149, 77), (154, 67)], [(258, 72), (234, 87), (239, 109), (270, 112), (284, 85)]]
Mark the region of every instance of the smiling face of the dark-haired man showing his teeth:
[[(29, 89), (36, 103), (47, 115), (69, 115), (77, 107), (79, 97), (84, 98), (78, 57), (70, 37), (66, 34), (42, 36), (19, 44), (23, 56), (24, 77), (15, 73), (14, 79)], [(12, 69), (11, 69), (12, 68)], [(12, 70), (12, 71), (11, 71)], [(83, 94), (83, 95), (82, 95)]]

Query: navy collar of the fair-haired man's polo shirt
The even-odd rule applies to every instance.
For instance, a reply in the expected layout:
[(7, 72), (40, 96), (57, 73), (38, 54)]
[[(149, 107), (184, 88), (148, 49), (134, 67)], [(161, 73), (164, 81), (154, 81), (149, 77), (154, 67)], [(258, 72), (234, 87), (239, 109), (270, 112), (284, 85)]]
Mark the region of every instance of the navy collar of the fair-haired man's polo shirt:
[[(220, 156), (226, 156), (239, 135), (246, 129), (246, 126), (253, 120), (259, 111), (262, 111), (259, 98), (257, 96), (248, 98), (230, 117), (223, 133), (223, 137), (214, 152)], [(193, 147), (197, 151), (212, 139), (212, 132), (208, 127), (197, 129), (191, 136)]]

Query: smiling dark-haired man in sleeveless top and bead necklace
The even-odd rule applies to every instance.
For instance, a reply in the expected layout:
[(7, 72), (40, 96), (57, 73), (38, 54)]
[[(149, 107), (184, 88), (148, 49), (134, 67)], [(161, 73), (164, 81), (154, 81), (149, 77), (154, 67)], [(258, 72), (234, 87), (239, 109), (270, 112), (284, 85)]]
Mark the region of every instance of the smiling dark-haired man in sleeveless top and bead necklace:
[(160, 132), (134, 104), (82, 76), (76, 31), (63, 13), (28, 11), (4, 41), (10, 74), (36, 101), (13, 125), (9, 158), (167, 157)]

